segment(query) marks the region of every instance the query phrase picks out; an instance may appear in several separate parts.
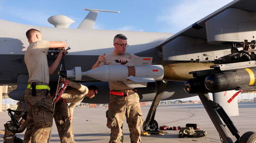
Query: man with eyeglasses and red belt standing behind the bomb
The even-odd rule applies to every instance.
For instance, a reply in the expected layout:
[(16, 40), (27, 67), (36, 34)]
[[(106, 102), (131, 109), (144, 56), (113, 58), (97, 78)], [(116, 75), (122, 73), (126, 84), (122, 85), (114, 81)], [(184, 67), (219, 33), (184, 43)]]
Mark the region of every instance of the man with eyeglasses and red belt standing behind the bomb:
[[(126, 53), (127, 38), (123, 34), (114, 37), (114, 50), (111, 54), (102, 54), (92, 69), (102, 65), (125, 64), (130, 59), (137, 57), (132, 53)], [(122, 81), (109, 81), (110, 98), (109, 110), (106, 112), (107, 127), (111, 129), (109, 142), (123, 142), (122, 125), (126, 121), (130, 130), (131, 142), (141, 142), (140, 126), (143, 124), (140, 98), (134, 88), (129, 88)]]

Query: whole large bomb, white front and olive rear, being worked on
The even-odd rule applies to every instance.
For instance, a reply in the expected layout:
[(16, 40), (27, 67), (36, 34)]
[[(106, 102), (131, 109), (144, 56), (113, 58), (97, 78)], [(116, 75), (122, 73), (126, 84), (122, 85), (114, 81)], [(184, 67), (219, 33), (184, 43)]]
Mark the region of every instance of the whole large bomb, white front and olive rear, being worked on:
[(148, 82), (157, 80), (186, 81), (192, 79), (189, 74), (194, 70), (210, 69), (213, 63), (175, 63), (167, 65), (151, 65), (151, 57), (136, 57), (125, 65), (102, 65), (86, 72), (81, 67), (61, 71), (59, 74), (70, 79), (82, 81), (88, 76), (101, 81), (123, 81), (129, 87), (145, 87)]

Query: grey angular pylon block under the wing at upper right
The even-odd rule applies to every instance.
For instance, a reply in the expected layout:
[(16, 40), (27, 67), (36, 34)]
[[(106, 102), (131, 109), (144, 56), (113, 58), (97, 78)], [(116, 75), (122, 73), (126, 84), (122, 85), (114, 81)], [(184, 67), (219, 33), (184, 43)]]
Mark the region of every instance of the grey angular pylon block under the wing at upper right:
[(256, 36), (256, 13), (229, 8), (205, 23), (210, 44), (252, 42)]

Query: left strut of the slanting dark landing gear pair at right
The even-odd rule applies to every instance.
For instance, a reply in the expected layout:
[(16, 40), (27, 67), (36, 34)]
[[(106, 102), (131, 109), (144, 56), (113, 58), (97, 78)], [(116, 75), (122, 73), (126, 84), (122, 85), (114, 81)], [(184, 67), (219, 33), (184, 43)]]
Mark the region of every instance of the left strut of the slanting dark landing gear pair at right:
[(206, 112), (208, 113), (213, 125), (215, 126), (216, 130), (219, 132), (219, 135), (223, 142), (233, 142), (231, 137), (229, 136), (227, 130), (225, 129), (225, 125), (221, 122), (219, 115), (214, 110), (214, 102), (210, 100), (208, 93), (200, 93), (198, 94), (202, 104)]

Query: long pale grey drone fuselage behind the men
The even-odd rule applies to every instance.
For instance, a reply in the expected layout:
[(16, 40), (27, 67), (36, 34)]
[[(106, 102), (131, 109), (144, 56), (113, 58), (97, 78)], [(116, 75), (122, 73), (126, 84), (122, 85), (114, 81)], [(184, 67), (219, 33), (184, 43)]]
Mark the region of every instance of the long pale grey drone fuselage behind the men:
[[(71, 50), (65, 56), (65, 68), (67, 70), (74, 67), (82, 67), (83, 71), (89, 70), (96, 62), (100, 54), (110, 54), (113, 51), (113, 38), (116, 34), (126, 35), (129, 47), (127, 52), (139, 53), (147, 57), (157, 57), (157, 50), (151, 51), (163, 40), (170, 37), (171, 33), (153, 32), (132, 32), (122, 30), (97, 30), (97, 29), (71, 29), (71, 28), (51, 28), (35, 25), (19, 24), (0, 19), (0, 84), (17, 84), (18, 75), (28, 74), (24, 64), (24, 52), (28, 46), (26, 32), (35, 28), (41, 31), (43, 40), (64, 41)], [(149, 52), (148, 52), (149, 51)], [(53, 62), (54, 59), (48, 59)], [(59, 68), (58, 68), (59, 69)], [(58, 75), (51, 75), (51, 81), (57, 81)], [(89, 80), (90, 81), (90, 80)], [(84, 81), (86, 82), (86, 81)], [(19, 83), (19, 82), (18, 82)], [(107, 82), (86, 82), (86, 85), (95, 84), (100, 89), (99, 94), (92, 100), (85, 99), (87, 103), (107, 103), (108, 84)], [(18, 89), (16, 94), (23, 93)], [(152, 101), (155, 96), (155, 83), (148, 84), (147, 88), (139, 90), (141, 101)], [(179, 94), (178, 94), (179, 93)], [(176, 95), (174, 97), (173, 95)], [(183, 90), (183, 83), (175, 82), (166, 90), (163, 100), (180, 99), (193, 94), (186, 94)], [(172, 97), (172, 98), (171, 98)]]

